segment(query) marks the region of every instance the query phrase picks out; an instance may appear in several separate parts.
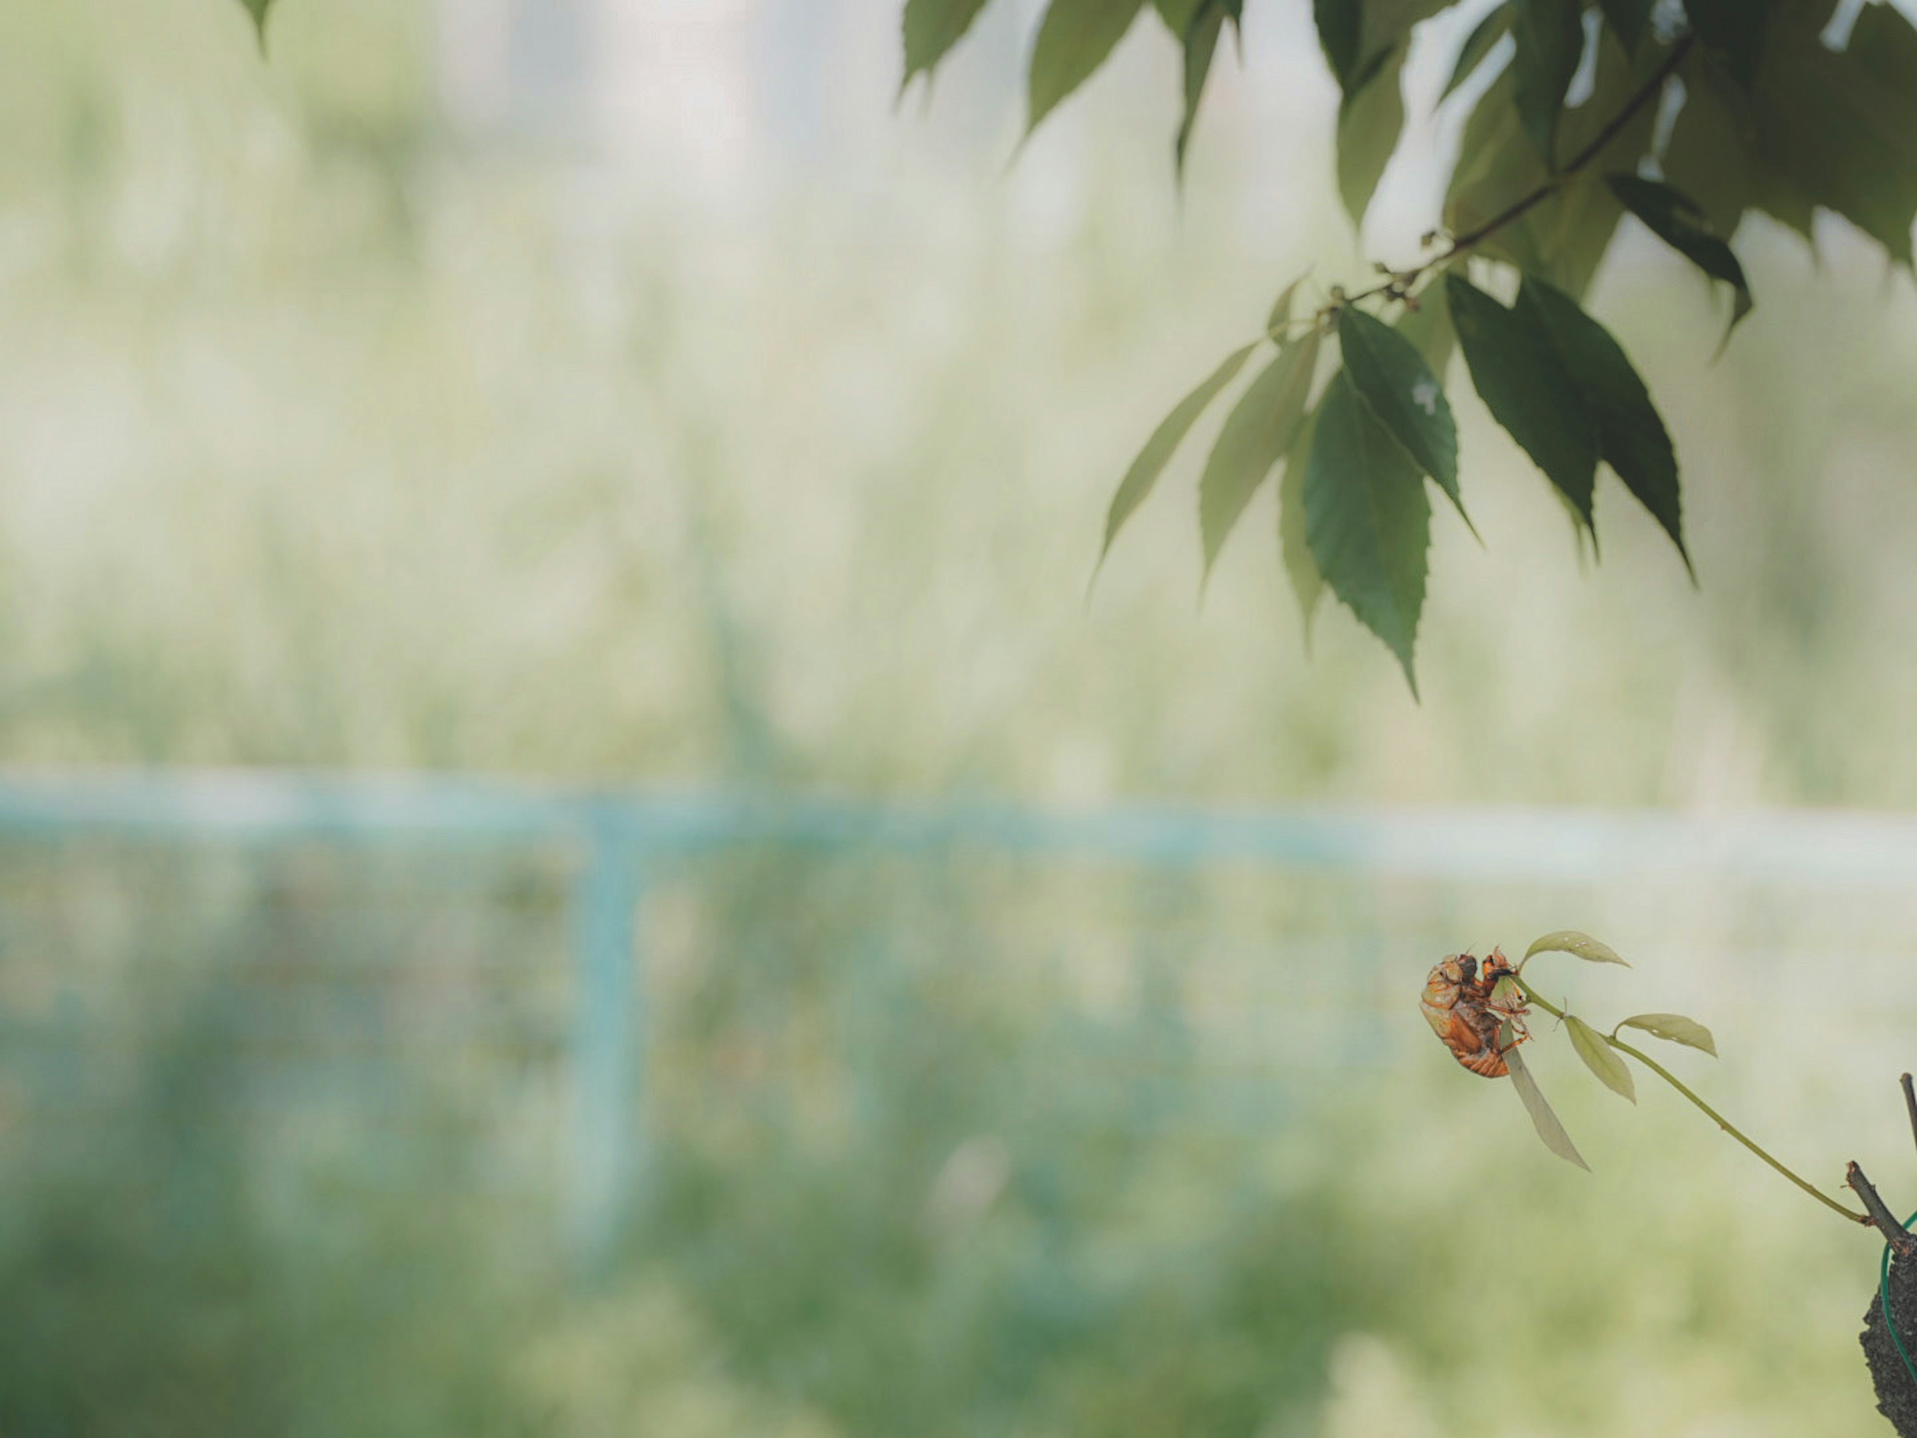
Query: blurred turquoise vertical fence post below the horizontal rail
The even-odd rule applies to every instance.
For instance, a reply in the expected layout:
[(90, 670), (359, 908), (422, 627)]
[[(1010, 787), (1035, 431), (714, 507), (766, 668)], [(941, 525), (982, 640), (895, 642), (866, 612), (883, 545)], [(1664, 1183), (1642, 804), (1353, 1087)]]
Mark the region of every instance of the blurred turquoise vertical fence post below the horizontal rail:
[(644, 1160), (638, 1078), (644, 1062), (644, 986), (638, 978), (642, 855), (598, 803), (589, 853), (573, 886), (571, 1131), (566, 1239), (581, 1269), (598, 1267), (617, 1235)]

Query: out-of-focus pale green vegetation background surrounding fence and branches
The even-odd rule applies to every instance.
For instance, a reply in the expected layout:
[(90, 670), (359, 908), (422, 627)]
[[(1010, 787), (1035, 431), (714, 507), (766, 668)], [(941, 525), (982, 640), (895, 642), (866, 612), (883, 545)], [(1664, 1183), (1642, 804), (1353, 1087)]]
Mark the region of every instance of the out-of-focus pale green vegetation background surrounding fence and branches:
[(1762, 813), (1773, 863), (652, 853), (583, 1254), (567, 846), (10, 830), (0, 1434), (1879, 1430), (1867, 1237), (1547, 1039), (1568, 1170), (1413, 1005), (1587, 928), (1637, 968), (1547, 991), (1695, 1014), (1733, 1118), (1911, 1193), (1917, 888), (1789, 838), (1873, 809), (1894, 853), (1917, 803), (1907, 280), (1752, 220), (1712, 362), (1626, 234), (1593, 307), (1702, 587), (1614, 483), (1580, 564), (1472, 403), (1419, 707), (1342, 610), (1307, 656), (1269, 495), (1196, 602), (1190, 456), (1085, 579), (1286, 280), (1415, 251), (1449, 123), (1361, 247), (1304, 6), (1252, 6), (1183, 197), (1164, 36), (1008, 169), (1037, 6), (897, 111), (895, 10), (280, 0), (265, 63), (226, 0), (0, 12), (10, 782)]

